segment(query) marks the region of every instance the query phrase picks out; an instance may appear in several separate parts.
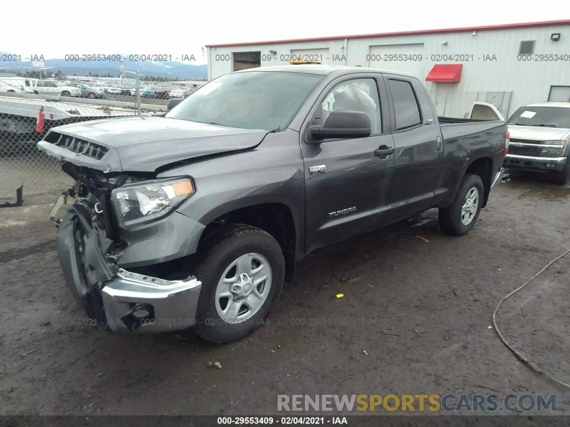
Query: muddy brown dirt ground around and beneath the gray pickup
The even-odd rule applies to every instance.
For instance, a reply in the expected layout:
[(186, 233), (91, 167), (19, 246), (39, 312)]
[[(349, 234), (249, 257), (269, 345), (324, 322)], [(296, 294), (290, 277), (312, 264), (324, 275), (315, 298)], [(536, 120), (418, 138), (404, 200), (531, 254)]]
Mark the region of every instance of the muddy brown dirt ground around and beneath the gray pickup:
[[(570, 248), (570, 188), (511, 175), (469, 235), (429, 211), (321, 249), (268, 325), (222, 346), (80, 325), (47, 221), (55, 195), (25, 200), (0, 209), (0, 414), (262, 415), (279, 394), (473, 392), (555, 393), (570, 414), (567, 389), (488, 328), (500, 298)], [(569, 283), (567, 256), (498, 313), (506, 339), (567, 382)]]

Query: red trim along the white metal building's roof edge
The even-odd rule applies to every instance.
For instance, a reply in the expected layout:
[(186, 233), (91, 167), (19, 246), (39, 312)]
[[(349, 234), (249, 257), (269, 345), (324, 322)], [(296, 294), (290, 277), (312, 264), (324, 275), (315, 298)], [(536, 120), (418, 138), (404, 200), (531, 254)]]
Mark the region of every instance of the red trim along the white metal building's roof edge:
[(543, 21), (543, 22), (526, 22), (526, 23), (518, 23), (518, 24), (487, 25), (487, 26), (482, 26), (482, 27), (444, 28), (443, 30), (416, 30), (416, 31), (400, 31), (400, 32), (381, 32), (379, 34), (361, 34), (361, 35), (351, 35), (351, 36), (332, 36), (332, 37), (320, 37), (320, 38), (317, 37), (317, 38), (312, 38), (312, 39), (271, 40), (269, 42), (206, 44), (206, 47), (259, 46), (260, 44), (326, 42), (327, 40), (366, 39), (366, 38), (401, 36), (401, 35), (443, 34), (446, 32), (512, 30), (514, 28), (549, 27), (549, 26), (555, 26), (555, 25), (568, 25), (568, 24), (570, 24), (570, 19), (547, 20), (547, 21)]

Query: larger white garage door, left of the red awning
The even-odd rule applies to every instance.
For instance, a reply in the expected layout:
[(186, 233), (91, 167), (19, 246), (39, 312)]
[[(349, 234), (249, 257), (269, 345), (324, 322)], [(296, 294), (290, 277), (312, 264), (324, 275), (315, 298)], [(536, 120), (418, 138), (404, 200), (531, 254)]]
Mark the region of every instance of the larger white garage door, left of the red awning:
[(425, 59), (424, 43), (370, 46), (368, 67), (383, 68), (419, 76)]

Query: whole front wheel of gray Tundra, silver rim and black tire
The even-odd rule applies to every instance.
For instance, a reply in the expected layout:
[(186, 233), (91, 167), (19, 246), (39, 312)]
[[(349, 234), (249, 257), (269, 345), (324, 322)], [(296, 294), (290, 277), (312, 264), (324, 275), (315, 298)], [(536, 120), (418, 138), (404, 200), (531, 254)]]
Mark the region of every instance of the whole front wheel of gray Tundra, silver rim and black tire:
[(194, 274), (202, 282), (196, 332), (213, 343), (245, 338), (268, 317), (283, 287), (279, 243), (250, 225), (219, 229), (200, 245)]

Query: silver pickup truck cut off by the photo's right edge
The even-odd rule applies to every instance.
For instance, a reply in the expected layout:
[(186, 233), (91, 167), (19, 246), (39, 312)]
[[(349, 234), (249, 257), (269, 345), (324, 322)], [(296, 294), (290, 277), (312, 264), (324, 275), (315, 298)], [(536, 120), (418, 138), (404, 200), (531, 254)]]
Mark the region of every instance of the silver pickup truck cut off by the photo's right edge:
[(511, 139), (503, 166), (551, 173), (557, 184), (570, 176), (570, 102), (535, 102), (507, 121)]

